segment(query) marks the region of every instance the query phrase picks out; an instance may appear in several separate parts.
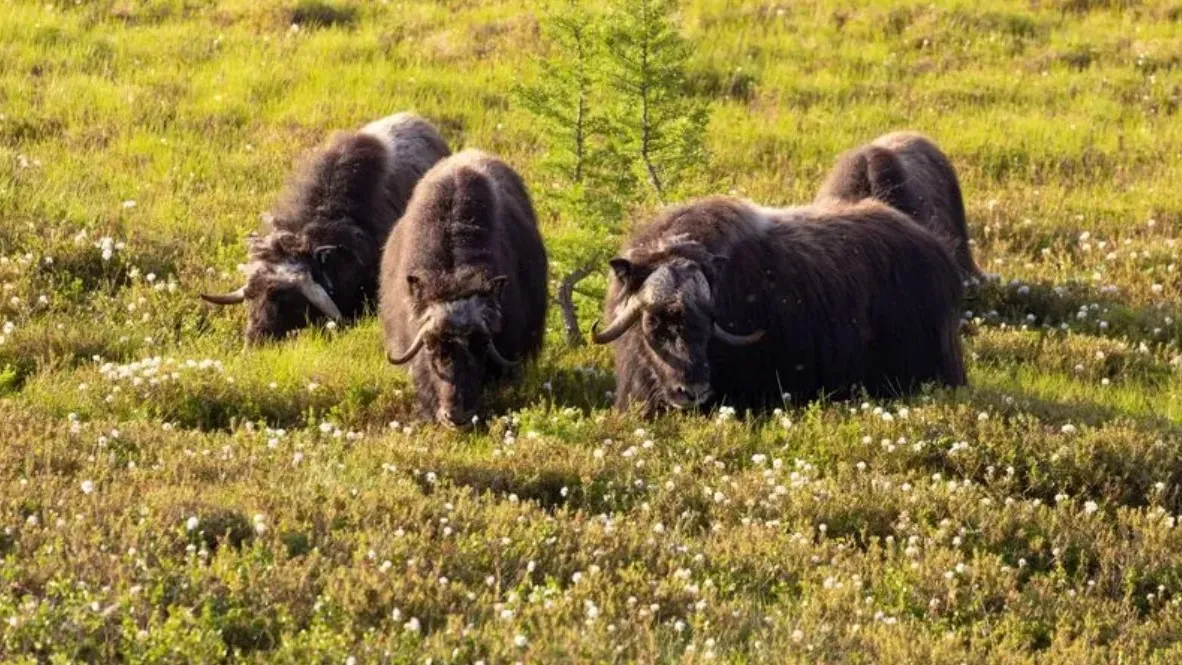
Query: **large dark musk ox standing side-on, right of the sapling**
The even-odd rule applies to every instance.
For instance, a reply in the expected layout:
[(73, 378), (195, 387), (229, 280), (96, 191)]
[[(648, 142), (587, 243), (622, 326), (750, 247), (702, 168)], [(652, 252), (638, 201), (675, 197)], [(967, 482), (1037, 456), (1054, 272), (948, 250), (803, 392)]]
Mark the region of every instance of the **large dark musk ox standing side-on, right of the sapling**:
[(771, 209), (706, 198), (611, 260), (598, 344), (616, 406), (762, 409), (859, 389), (965, 384), (961, 281), (944, 245), (877, 201)]

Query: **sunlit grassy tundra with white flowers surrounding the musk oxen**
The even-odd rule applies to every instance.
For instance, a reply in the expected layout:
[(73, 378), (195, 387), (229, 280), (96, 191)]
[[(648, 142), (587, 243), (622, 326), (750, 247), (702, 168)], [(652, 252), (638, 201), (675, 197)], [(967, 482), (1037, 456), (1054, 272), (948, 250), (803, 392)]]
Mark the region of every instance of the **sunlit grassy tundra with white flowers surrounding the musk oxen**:
[(972, 386), (643, 422), (556, 311), (454, 433), (375, 321), (243, 350), (195, 294), (392, 111), (544, 200), (534, 2), (4, 2), (0, 660), (1182, 661), (1182, 5), (852, 5), (687, 0), (702, 194), (933, 136), (1001, 275)]

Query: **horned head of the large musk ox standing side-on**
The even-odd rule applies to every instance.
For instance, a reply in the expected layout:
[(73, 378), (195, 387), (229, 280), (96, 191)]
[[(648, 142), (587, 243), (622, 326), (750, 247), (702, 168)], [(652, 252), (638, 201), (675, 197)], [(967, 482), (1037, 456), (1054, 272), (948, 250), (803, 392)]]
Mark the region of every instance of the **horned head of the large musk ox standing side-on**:
[(622, 287), (619, 305), (605, 330), (596, 324), (592, 339), (609, 344), (639, 324), (637, 361), (652, 369), (655, 397), (674, 409), (695, 408), (710, 397), (712, 339), (745, 346), (764, 335), (733, 334), (715, 322), (714, 283), (726, 262), (697, 242), (610, 261)]

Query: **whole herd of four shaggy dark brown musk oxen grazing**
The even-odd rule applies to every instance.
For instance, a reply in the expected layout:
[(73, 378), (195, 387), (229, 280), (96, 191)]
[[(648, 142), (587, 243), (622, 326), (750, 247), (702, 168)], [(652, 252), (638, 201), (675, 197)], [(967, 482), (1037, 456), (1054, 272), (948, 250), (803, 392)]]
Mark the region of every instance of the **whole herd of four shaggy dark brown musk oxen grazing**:
[[(592, 339), (615, 345), (619, 409), (966, 383), (960, 301), (982, 274), (956, 174), (917, 133), (842, 155), (806, 206), (670, 207), (609, 266)], [(245, 304), (249, 343), (376, 307), (421, 417), (459, 426), (541, 348), (546, 249), (512, 167), (452, 154), (430, 123), (397, 113), (319, 148), (251, 235), (246, 283), (202, 298)]]

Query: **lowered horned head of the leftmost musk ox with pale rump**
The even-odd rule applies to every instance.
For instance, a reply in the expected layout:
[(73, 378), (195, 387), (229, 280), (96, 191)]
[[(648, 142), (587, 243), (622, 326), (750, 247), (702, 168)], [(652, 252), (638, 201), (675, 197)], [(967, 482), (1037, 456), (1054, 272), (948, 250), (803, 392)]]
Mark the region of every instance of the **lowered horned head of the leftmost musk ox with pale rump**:
[(359, 283), (349, 250), (291, 233), (251, 236), (246, 283), (226, 294), (201, 294), (214, 305), (247, 306), (246, 339), (278, 339), (309, 324), (342, 319), (335, 301)]

